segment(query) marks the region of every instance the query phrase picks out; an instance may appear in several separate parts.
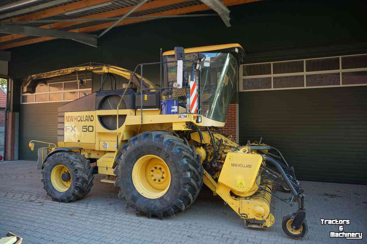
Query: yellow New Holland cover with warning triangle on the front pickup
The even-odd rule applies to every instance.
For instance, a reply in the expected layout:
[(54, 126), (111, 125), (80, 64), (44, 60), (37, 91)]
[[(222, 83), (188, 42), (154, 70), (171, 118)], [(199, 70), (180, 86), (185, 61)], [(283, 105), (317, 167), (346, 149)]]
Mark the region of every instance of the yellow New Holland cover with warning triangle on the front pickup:
[(218, 182), (239, 193), (252, 189), (261, 166), (259, 154), (235, 151), (228, 153)]

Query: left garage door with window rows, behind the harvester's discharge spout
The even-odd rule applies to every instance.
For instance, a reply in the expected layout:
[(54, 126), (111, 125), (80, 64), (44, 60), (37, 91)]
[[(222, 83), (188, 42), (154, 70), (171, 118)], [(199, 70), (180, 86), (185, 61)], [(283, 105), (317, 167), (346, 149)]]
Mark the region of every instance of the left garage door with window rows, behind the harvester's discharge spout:
[[(79, 72), (77, 83), (75, 73), (43, 80), (36, 86), (34, 94), (23, 93), (19, 108), (19, 159), (37, 160), (37, 150), (28, 147), (30, 140), (57, 143), (58, 107), (68, 101), (90, 94), (92, 74)], [(36, 147), (44, 144), (35, 143)]]

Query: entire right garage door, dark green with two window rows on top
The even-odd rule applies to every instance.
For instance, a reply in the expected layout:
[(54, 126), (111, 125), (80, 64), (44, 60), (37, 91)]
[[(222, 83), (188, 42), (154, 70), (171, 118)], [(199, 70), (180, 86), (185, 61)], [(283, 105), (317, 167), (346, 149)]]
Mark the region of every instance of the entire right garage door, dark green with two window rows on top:
[(245, 64), (239, 140), (283, 152), (301, 180), (367, 184), (367, 54)]

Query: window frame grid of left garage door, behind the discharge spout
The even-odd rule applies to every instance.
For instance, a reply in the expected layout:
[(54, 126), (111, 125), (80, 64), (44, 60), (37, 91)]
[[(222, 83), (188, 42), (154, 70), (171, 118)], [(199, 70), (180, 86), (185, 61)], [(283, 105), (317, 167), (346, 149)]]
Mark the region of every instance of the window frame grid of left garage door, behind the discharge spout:
[[(87, 82), (90, 82), (91, 83), (91, 86), (93, 85), (92, 84), (92, 79), (86, 79)], [(79, 95), (80, 95), (80, 92), (83, 92), (83, 91), (91, 91), (92, 92), (92, 87), (91, 88), (84, 88), (84, 89), (81, 89), (80, 88), (80, 84), (78, 84), (78, 89), (73, 89), (73, 90), (64, 90), (64, 83), (68, 83), (68, 82), (77, 82), (77, 80), (69, 80), (69, 81), (62, 81), (62, 82), (52, 82), (52, 83), (47, 83), (46, 85), (48, 86), (48, 92), (36, 92), (36, 93), (23, 93), (22, 89), (21, 89), (21, 96), (20, 96), (20, 104), (33, 104), (33, 103), (61, 103), (61, 102), (69, 102), (69, 101), (74, 101), (74, 100), (64, 100), (64, 93), (67, 93), (67, 92), (78, 92), (78, 98)], [(61, 91), (55, 91), (55, 92), (50, 92), (50, 84), (60, 84), (62, 83), (62, 90)], [(52, 93), (62, 93), (62, 100), (59, 100), (59, 101), (49, 101), (50, 100), (50, 94)], [(42, 102), (36, 102), (36, 95), (39, 95), (39, 94), (47, 94), (47, 101), (42, 101)], [(33, 95), (33, 102), (29, 102), (29, 103), (23, 103), (23, 96), (31, 96)], [(76, 99), (78, 99), (76, 98)]]

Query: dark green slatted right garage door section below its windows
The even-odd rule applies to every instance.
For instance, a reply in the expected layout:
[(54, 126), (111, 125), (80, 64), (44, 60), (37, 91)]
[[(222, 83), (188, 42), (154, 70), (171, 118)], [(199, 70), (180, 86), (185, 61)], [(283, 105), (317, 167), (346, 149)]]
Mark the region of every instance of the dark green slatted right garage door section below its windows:
[(278, 148), (300, 180), (367, 183), (367, 86), (240, 92), (239, 140)]

